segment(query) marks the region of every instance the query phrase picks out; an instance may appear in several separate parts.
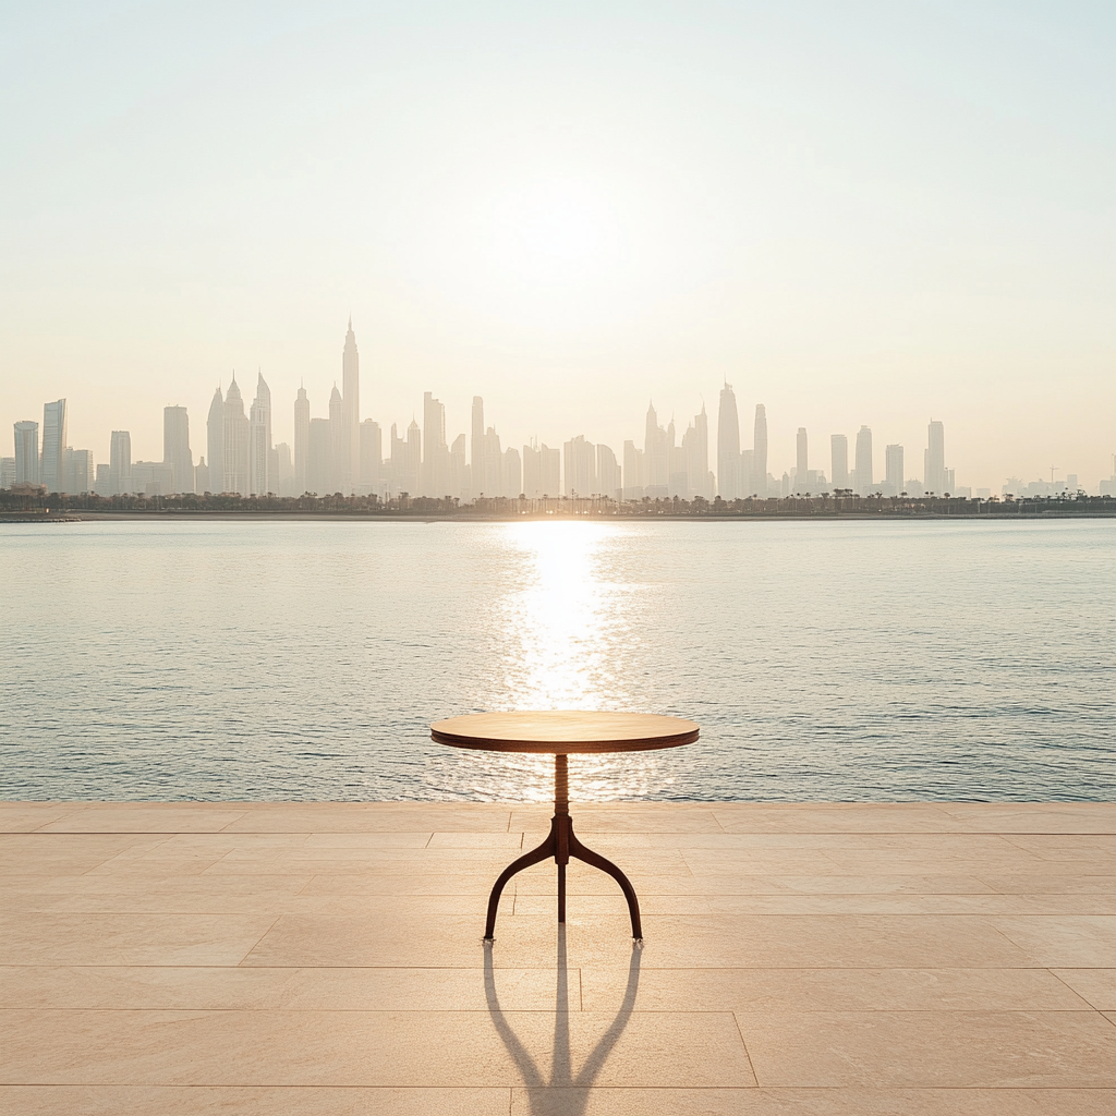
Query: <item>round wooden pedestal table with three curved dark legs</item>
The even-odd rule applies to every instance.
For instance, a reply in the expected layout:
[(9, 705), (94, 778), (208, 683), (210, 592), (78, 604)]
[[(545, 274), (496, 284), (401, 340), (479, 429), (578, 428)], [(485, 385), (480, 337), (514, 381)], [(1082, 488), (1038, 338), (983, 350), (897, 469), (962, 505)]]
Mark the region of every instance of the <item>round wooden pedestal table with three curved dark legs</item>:
[(698, 739), (693, 721), (650, 713), (583, 713), (541, 711), (518, 713), (473, 713), (452, 716), (431, 725), (431, 739), (453, 748), (473, 748), (490, 752), (542, 752), (555, 758), (555, 816), (547, 839), (500, 874), (489, 896), (484, 940), (492, 941), (496, 913), (504, 884), (517, 872), (554, 856), (558, 865), (558, 922), (566, 921), (566, 865), (576, 857), (607, 872), (620, 885), (632, 916), (632, 936), (641, 940), (639, 901), (627, 876), (610, 860), (586, 848), (574, 836), (569, 816), (568, 757), (600, 752), (641, 752), (656, 748), (677, 748)]

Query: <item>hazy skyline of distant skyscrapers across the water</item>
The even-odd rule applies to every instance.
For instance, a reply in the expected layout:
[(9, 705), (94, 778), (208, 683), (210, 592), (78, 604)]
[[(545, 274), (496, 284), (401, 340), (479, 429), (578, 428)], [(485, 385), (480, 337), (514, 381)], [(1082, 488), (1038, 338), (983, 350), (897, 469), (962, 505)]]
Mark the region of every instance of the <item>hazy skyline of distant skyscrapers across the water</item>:
[[(768, 466), (767, 410), (756, 405), (750, 449), (741, 446), (737, 396), (728, 382), (721, 388), (716, 415), (716, 471), (710, 469), (709, 419), (703, 406), (681, 439), (674, 420), (663, 425), (654, 404), (647, 407), (642, 448), (636, 440), (624, 443), (619, 456), (584, 434), (559, 449), (533, 439), (521, 449), (503, 446), (496, 426), (484, 421), (484, 401), (472, 402), (470, 430), (452, 441), (445, 405), (431, 392), (423, 396), (422, 425), (415, 417), (401, 433), (396, 423), (386, 444), (379, 423), (360, 420), (360, 356), (349, 318), (341, 348), (340, 388), (336, 382), (328, 400), (328, 417), (310, 415), (310, 398), (298, 388), (294, 408), (294, 449), (272, 441), (271, 391), (262, 373), (257, 374), (256, 396), (246, 407), (235, 374), (228, 391), (213, 393), (205, 420), (205, 454), (194, 462), (190, 448), (190, 420), (183, 406), (163, 411), (163, 460), (133, 461), (128, 431), (113, 431), (109, 461), (95, 465), (88, 450), (67, 444), (66, 400), (47, 403), (42, 426), (15, 424), (15, 455), (0, 458), (0, 488), (42, 487), (50, 492), (102, 496), (142, 493), (169, 496), (184, 492), (224, 492), (241, 496), (325, 496), (402, 493), (464, 501), (482, 497), (526, 496), (593, 497), (642, 500), (681, 497), (769, 499), (818, 496), (850, 491), (857, 496), (972, 496), (958, 489), (953, 470), (945, 464), (945, 430), (931, 420), (923, 459), (923, 480), (904, 479), (903, 446), (884, 451), (884, 474), (876, 473), (872, 430), (862, 426), (853, 445), (846, 434), (829, 439), (829, 475), (810, 468), (809, 435), (799, 427), (795, 466), (775, 477)], [(852, 450), (852, 456), (850, 456)], [(1076, 490), (1077, 478), (1071, 488)], [(1055, 494), (1065, 491), (1070, 478), (1024, 482), (1017, 478), (1003, 493)], [(1113, 481), (1101, 488), (1116, 489)], [(990, 490), (978, 490), (987, 497)]]

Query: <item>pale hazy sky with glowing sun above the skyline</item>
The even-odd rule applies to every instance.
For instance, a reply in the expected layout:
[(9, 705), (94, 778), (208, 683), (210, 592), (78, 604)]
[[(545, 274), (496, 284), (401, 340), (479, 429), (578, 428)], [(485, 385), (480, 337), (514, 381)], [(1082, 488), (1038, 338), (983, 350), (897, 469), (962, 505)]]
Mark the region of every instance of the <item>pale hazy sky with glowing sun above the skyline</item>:
[[(0, 6), (0, 423), (204, 453), (327, 414), (619, 453), (734, 385), (770, 464), (872, 426), (959, 484), (1116, 451), (1116, 4)], [(714, 448), (711, 446), (711, 451)], [(711, 459), (715, 460), (711, 452)]]

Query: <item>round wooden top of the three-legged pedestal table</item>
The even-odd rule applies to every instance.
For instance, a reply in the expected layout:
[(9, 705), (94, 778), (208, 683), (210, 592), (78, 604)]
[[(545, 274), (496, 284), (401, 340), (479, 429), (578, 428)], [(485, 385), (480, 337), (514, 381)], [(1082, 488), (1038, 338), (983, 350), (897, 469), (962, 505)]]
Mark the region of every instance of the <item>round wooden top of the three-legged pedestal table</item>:
[(651, 713), (587, 713), (546, 710), (473, 713), (430, 727), (432, 740), (491, 752), (642, 752), (677, 748), (698, 739), (699, 727)]

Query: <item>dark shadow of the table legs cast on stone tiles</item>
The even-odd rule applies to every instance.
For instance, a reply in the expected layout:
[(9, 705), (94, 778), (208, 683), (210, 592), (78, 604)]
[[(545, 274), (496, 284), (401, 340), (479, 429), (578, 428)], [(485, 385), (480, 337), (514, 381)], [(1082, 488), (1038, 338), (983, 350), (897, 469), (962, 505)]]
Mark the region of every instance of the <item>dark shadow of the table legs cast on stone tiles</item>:
[(562, 1107), (557, 1109), (554, 1105), (554, 1096), (546, 1101), (546, 1113), (555, 1114), (560, 1112), (561, 1116), (580, 1116), (585, 1112), (589, 1100), (589, 1088), (593, 1086), (616, 1046), (617, 1040), (627, 1027), (628, 1019), (635, 1009), (635, 998), (639, 990), (639, 958), (643, 944), (632, 943), (632, 960), (628, 963), (627, 988), (624, 991), (624, 1001), (620, 1004), (616, 1018), (612, 1021), (608, 1030), (597, 1040), (597, 1045), (585, 1059), (585, 1065), (574, 1074), (573, 1061), (569, 1049), (569, 978), (566, 966), (566, 927), (558, 926), (558, 968), (557, 968), (557, 1002), (555, 1004), (555, 1039), (554, 1050), (550, 1057), (550, 1079), (546, 1080), (539, 1069), (535, 1058), (528, 1052), (519, 1036), (516, 1035), (500, 1008), (500, 1001), (496, 991), (496, 975), (492, 966), (492, 943), (484, 943), (484, 999), (488, 1002), (489, 1016), (492, 1026), (500, 1036), (511, 1060), (519, 1069), (523, 1084), (528, 1089), (528, 1101), (532, 1113), (542, 1113), (542, 1108), (537, 1107), (543, 1099), (545, 1094), (538, 1090), (569, 1089), (570, 1093), (562, 1095)]

